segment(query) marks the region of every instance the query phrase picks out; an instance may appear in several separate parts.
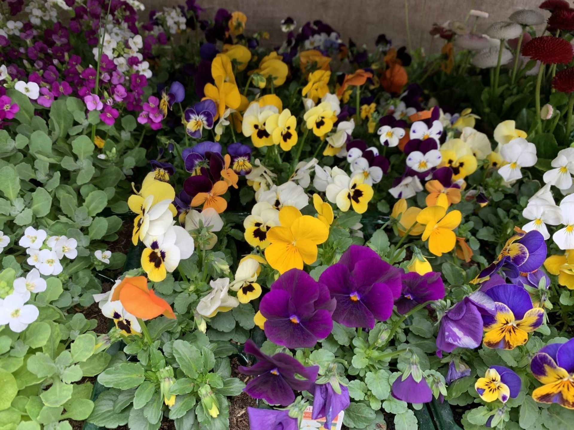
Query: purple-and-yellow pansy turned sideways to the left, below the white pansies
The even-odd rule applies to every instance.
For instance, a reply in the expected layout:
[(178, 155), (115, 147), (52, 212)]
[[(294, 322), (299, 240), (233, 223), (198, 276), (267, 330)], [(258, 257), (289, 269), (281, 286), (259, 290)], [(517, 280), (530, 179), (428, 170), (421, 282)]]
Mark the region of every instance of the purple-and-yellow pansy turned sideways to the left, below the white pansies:
[(499, 270), (515, 279), (522, 273), (539, 269), (546, 259), (544, 236), (537, 230), (528, 233), (516, 233), (506, 241), (498, 259), (479, 273), (478, 278), (488, 278)]

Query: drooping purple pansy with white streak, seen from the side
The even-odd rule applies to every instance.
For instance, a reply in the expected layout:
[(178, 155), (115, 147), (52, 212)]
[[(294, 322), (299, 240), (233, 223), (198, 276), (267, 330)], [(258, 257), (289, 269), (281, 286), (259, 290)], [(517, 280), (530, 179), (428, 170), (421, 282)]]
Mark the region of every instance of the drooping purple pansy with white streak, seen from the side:
[(475, 291), (448, 310), (440, 320), (436, 336), (437, 355), (456, 347), (478, 348), (482, 341), (482, 315), (494, 315), (495, 304), (489, 296)]

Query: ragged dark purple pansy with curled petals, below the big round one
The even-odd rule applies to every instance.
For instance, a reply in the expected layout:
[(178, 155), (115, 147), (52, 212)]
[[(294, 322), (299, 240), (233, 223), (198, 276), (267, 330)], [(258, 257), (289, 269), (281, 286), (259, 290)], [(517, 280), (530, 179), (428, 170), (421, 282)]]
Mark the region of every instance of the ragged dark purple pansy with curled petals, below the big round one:
[[(263, 354), (251, 339), (245, 342), (244, 351), (257, 358), (257, 363), (249, 368), (239, 366), (239, 372), (255, 377), (243, 391), (272, 405), (292, 404), (295, 400), (293, 391), (310, 390), (319, 372), (319, 366), (306, 368), (296, 358), (284, 353), (277, 353), (273, 357)], [(295, 374), (304, 379), (296, 378)]]

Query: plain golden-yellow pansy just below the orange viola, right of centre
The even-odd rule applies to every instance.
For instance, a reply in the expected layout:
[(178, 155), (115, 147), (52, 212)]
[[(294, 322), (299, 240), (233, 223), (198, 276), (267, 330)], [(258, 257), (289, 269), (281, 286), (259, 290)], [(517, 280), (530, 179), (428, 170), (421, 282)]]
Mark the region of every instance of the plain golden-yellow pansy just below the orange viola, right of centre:
[(430, 252), (440, 257), (455, 248), (456, 234), (452, 230), (459, 226), (461, 218), (460, 210), (447, 214), (443, 206), (429, 206), (421, 210), (417, 222), (425, 226), (421, 239), (428, 240)]

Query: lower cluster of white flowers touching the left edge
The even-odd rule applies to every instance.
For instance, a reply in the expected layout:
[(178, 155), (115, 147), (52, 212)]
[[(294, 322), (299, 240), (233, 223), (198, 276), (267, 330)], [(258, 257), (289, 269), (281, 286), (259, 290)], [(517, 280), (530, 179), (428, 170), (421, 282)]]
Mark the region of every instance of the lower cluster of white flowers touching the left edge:
[(26, 302), (32, 293), (46, 291), (46, 281), (37, 269), (32, 269), (26, 277), (15, 279), (13, 288), (10, 295), (0, 299), (0, 326), (8, 325), (10, 330), (20, 333), (38, 318), (38, 308)]

